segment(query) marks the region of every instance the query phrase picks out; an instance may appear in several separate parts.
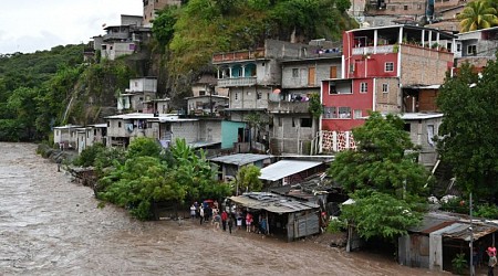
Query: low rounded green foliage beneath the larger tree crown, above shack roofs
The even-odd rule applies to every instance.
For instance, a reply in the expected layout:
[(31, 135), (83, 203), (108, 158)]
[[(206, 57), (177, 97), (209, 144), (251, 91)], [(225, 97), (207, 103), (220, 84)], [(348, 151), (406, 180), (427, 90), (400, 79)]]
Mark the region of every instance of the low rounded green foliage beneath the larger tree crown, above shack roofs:
[(352, 223), (360, 236), (369, 240), (373, 236), (395, 240), (405, 235), (407, 229), (422, 221), (422, 213), (415, 203), (382, 193), (353, 194), (355, 203), (342, 205), (341, 219)]

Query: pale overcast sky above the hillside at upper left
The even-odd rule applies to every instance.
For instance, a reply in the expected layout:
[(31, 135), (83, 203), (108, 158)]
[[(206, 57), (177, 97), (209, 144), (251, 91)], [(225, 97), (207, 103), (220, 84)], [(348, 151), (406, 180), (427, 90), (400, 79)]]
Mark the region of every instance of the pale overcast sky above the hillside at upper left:
[(120, 24), (121, 14), (142, 13), (142, 0), (1, 1), (0, 54), (86, 43), (105, 33), (103, 24)]

